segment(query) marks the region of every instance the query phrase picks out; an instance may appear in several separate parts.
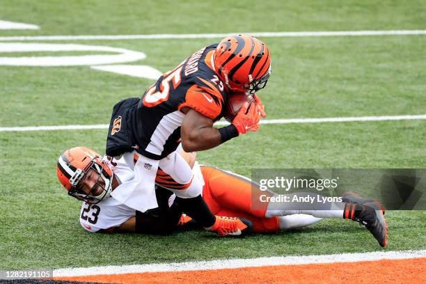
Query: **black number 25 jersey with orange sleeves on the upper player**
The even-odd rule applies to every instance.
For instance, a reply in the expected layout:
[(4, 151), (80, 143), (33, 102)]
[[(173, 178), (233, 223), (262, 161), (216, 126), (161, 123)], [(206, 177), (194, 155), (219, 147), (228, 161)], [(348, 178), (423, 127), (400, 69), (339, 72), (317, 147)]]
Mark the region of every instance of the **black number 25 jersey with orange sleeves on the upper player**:
[[(162, 159), (176, 150), (185, 116), (180, 111), (183, 107), (195, 109), (213, 120), (221, 117), (227, 90), (214, 72), (212, 56), (216, 46), (210, 45), (192, 54), (177, 68), (159, 77), (138, 104), (129, 104), (132, 109), (126, 116), (132, 120), (129, 127), (133, 139), (130, 140), (134, 141), (141, 155)], [(111, 131), (114, 120), (113, 115)]]

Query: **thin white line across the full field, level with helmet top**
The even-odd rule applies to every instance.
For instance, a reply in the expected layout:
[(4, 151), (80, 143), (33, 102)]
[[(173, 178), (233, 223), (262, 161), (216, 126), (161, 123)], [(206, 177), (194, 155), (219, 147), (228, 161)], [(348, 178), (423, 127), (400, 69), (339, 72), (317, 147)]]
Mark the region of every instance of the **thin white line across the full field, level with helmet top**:
[[(153, 35), (100, 35), (100, 36), (2, 36), (0, 40), (169, 40), (191, 38), (225, 38), (235, 33), (187, 33)], [(390, 30), (390, 31), (277, 31), (251, 32), (261, 38), (316, 37), (316, 36), (410, 36), (425, 35), (426, 30)]]

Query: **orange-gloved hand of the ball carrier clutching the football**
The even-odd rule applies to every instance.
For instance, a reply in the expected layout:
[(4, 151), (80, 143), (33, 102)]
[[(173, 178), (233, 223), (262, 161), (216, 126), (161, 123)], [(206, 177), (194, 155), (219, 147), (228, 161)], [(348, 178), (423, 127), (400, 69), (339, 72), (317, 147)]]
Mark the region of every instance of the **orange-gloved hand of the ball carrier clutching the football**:
[(237, 116), (232, 120), (239, 134), (246, 132), (255, 132), (259, 129), (260, 112), (254, 103), (244, 103), (242, 108), (238, 111)]

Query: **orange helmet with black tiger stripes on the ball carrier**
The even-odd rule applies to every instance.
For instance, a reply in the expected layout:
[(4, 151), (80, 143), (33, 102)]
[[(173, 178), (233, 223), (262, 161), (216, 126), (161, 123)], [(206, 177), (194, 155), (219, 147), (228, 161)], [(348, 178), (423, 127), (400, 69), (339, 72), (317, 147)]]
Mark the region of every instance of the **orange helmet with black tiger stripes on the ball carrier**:
[(214, 69), (232, 91), (255, 93), (265, 88), (271, 74), (271, 54), (251, 35), (228, 36), (214, 51)]

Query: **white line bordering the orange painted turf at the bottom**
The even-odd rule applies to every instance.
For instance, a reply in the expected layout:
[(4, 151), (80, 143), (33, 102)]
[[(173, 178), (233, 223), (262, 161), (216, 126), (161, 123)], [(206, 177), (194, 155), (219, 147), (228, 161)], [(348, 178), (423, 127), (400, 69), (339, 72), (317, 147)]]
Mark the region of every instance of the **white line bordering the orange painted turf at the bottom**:
[(242, 267), (264, 267), (269, 265), (310, 265), (317, 263), (358, 262), (374, 260), (404, 260), (425, 258), (423, 251), (377, 251), (371, 253), (342, 253), (333, 255), (301, 255), (269, 258), (248, 258), (233, 260), (210, 260), (194, 262), (173, 262), (152, 265), (124, 265), (104, 267), (81, 267), (55, 269), (54, 277), (88, 276), (101, 274), (127, 274), (143, 272), (194, 271), (211, 269), (232, 269)]

